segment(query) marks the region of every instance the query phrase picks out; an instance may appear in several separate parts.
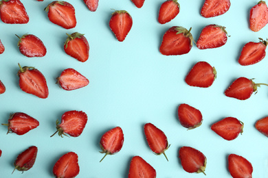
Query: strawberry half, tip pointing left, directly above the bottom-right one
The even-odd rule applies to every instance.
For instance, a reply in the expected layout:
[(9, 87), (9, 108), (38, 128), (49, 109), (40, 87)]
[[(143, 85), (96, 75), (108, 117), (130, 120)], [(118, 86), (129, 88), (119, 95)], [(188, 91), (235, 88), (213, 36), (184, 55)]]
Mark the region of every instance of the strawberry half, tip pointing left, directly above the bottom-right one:
[(211, 126), (212, 131), (225, 140), (234, 140), (243, 133), (244, 124), (237, 118), (227, 117)]

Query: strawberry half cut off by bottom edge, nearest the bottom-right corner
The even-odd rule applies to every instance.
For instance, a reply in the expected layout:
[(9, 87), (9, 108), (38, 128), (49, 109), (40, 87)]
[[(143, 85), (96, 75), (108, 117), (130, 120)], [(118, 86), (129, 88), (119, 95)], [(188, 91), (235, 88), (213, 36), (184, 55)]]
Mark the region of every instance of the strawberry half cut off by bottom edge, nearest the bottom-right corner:
[(236, 154), (228, 156), (228, 168), (234, 178), (251, 178), (253, 167), (252, 164), (244, 157)]

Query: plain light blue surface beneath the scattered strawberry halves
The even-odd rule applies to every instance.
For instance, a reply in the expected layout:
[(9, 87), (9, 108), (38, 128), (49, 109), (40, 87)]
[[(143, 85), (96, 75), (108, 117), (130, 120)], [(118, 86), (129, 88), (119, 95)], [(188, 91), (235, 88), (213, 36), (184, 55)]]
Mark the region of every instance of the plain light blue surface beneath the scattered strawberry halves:
[[(157, 177), (231, 177), (227, 170), (227, 155), (242, 155), (254, 167), (253, 177), (268, 177), (268, 138), (259, 133), (256, 120), (268, 115), (268, 88), (259, 88), (258, 94), (246, 101), (225, 97), (223, 92), (238, 77), (256, 78), (268, 83), (267, 57), (252, 66), (237, 62), (243, 45), (258, 38), (268, 37), (268, 26), (258, 32), (249, 29), (249, 10), (258, 1), (231, 1), (231, 8), (222, 16), (203, 18), (200, 15), (203, 1), (180, 0), (181, 12), (170, 23), (157, 22), (158, 10), (163, 0), (146, 0), (138, 9), (131, 0), (102, 1), (96, 12), (90, 12), (82, 0), (70, 1), (76, 9), (77, 26), (63, 29), (51, 23), (43, 9), (52, 0), (38, 2), (22, 0), (30, 22), (25, 25), (8, 25), (0, 22), (0, 39), (5, 52), (0, 55), (0, 79), (6, 92), (0, 95), (0, 123), (7, 123), (11, 112), (25, 112), (36, 118), (40, 125), (23, 136), (5, 135), (7, 128), (0, 127), (0, 177), (54, 177), (52, 168), (58, 158), (69, 151), (78, 154), (80, 173), (77, 177), (107, 178), (127, 177), (131, 157), (139, 155), (157, 171)], [(126, 10), (133, 18), (133, 27), (124, 42), (118, 42), (109, 29), (113, 10)], [(197, 40), (205, 25), (226, 27), (227, 43), (218, 49), (199, 50), (194, 45), (190, 53), (164, 56), (159, 53), (164, 32), (172, 26), (192, 27)], [(89, 60), (78, 62), (63, 50), (66, 33), (80, 32), (89, 41)], [(44, 58), (23, 56), (16, 43), (23, 34), (34, 34), (47, 47)], [(184, 81), (190, 68), (206, 61), (216, 68), (217, 78), (210, 88), (190, 87)], [(21, 66), (38, 68), (47, 79), (49, 97), (39, 99), (19, 88), (16, 76)], [(65, 68), (74, 68), (90, 81), (89, 86), (66, 91), (55, 82)], [(187, 131), (177, 119), (177, 107), (188, 103), (203, 114), (203, 124)], [(89, 120), (78, 138), (49, 136), (56, 131), (55, 122), (69, 110), (82, 110)], [(227, 116), (245, 123), (244, 133), (228, 142), (216, 135), (210, 126)], [(143, 126), (153, 123), (166, 133), (171, 144), (166, 155), (155, 155), (144, 138)], [(124, 131), (124, 145), (116, 155), (103, 157), (98, 143), (102, 134), (120, 126)], [(34, 166), (21, 174), (15, 171), (16, 156), (35, 145), (38, 154)], [(201, 151), (208, 159), (206, 176), (186, 173), (178, 158), (180, 147), (189, 146)]]

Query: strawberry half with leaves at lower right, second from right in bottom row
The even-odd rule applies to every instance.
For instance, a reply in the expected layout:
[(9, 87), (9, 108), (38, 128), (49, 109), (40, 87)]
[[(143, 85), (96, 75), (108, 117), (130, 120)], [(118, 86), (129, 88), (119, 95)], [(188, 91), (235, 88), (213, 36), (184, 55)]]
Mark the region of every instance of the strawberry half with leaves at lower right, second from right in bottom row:
[(182, 168), (188, 173), (203, 173), (205, 175), (205, 166), (207, 159), (203, 153), (192, 147), (181, 147), (179, 149), (179, 159)]

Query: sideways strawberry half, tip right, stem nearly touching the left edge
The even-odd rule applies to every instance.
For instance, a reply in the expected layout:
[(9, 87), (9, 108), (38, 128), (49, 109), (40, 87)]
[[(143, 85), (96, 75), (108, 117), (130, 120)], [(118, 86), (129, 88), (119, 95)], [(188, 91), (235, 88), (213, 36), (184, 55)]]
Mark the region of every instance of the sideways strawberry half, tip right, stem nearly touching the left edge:
[(8, 133), (16, 133), (17, 135), (21, 136), (38, 127), (39, 122), (35, 118), (32, 118), (23, 112), (16, 112), (10, 115), (8, 124), (2, 125), (8, 126)]

